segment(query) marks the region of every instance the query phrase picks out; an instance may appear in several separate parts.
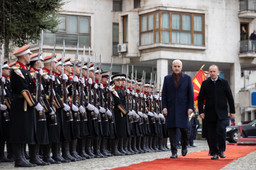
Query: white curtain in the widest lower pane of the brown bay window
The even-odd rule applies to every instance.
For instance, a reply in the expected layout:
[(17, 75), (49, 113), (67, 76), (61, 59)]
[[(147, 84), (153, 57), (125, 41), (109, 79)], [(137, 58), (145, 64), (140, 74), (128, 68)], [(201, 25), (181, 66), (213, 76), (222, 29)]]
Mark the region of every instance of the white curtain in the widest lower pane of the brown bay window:
[(172, 43), (191, 44), (191, 33), (172, 32)]

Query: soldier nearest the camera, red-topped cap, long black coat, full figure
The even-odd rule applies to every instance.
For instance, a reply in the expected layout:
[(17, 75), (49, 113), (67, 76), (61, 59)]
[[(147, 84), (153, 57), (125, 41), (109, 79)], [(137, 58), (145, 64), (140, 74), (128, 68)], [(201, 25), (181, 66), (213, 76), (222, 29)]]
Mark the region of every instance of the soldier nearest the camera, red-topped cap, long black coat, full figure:
[[(15, 152), (15, 167), (35, 167), (39, 158), (37, 152), (37, 135), (35, 132), (35, 110), (42, 111), (44, 107), (35, 98), (35, 87), (27, 65), (30, 64), (29, 45), (21, 47), (13, 53), (18, 60), (11, 71), (11, 89), (13, 101), (10, 115), (10, 142)], [(35, 110), (34, 110), (35, 108)], [(24, 156), (24, 144), (30, 145), (30, 162)], [(35, 164), (34, 164), (35, 163)]]

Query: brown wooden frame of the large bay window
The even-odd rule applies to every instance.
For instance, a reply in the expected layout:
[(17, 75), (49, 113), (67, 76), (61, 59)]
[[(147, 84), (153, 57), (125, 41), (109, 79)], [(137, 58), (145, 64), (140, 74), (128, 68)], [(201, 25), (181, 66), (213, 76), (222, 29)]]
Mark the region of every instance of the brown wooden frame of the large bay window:
[[(155, 29), (155, 13), (158, 13), (158, 28)], [(168, 28), (162, 28), (162, 13), (169, 13), (169, 29)], [(153, 30), (149, 30), (149, 15), (150, 14), (154, 14), (154, 29)], [(180, 14), (181, 15), (181, 29), (180, 30), (175, 30), (172, 28), (173, 23), (172, 23), (172, 14)], [(183, 29), (183, 21), (182, 21), (182, 16), (183, 14), (189, 14), (191, 16), (191, 30), (182, 30)], [(142, 16), (147, 16), (147, 31), (142, 31)], [(194, 16), (202, 16), (202, 31), (195, 31), (194, 30)], [(159, 40), (158, 43), (162, 43), (162, 31), (169, 31), (169, 43), (171, 44), (181, 44), (181, 43), (173, 43), (172, 42), (172, 32), (176, 31), (176, 32), (184, 32), (184, 33), (192, 33), (192, 43), (191, 44), (185, 44), (185, 45), (194, 45), (194, 33), (202, 33), (203, 34), (203, 46), (205, 45), (205, 14), (200, 14), (200, 13), (185, 13), (185, 12), (178, 12), (178, 11), (163, 11), (163, 10), (159, 10), (159, 11), (154, 11), (151, 13), (146, 13), (146, 14), (141, 14), (140, 15), (140, 45), (141, 45), (141, 35), (143, 33), (150, 33), (150, 32), (154, 32), (154, 43), (155, 43), (155, 31), (159, 31)], [(202, 46), (202, 45), (198, 45), (198, 46)]]

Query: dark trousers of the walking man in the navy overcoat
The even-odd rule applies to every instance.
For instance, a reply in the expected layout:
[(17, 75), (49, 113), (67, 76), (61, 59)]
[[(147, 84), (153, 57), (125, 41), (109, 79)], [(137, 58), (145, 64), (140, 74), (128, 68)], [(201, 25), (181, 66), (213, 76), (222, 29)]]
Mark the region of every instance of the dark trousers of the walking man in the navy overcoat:
[[(168, 133), (170, 137), (170, 143), (171, 143), (171, 152), (173, 154), (177, 154), (177, 148), (176, 148), (176, 130), (177, 128), (168, 128)], [(186, 145), (188, 144), (188, 128), (180, 128), (181, 137), (182, 137), (182, 149), (186, 149)]]

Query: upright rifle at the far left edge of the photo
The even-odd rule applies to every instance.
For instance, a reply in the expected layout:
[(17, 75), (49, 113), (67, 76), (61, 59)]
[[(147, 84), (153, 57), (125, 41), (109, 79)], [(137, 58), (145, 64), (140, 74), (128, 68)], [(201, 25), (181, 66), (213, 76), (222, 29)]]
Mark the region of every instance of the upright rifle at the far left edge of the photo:
[[(0, 76), (2, 77), (3, 75), (3, 72), (2, 72), (2, 65), (3, 65), (3, 60), (4, 60), (4, 44), (2, 45), (2, 55), (1, 55), (1, 70), (0, 70)], [(5, 104), (5, 101), (4, 101), (4, 88), (5, 88), (5, 82), (2, 82), (1, 81), (1, 101), (0, 101), (0, 103), (2, 104), (2, 105), (4, 105)], [(7, 110), (7, 108), (6, 108), (6, 110), (4, 110), (3, 111), (3, 122), (6, 122), (6, 121), (9, 121), (9, 113), (8, 113), (8, 110)]]

